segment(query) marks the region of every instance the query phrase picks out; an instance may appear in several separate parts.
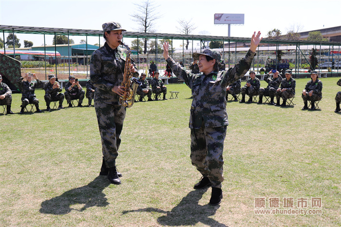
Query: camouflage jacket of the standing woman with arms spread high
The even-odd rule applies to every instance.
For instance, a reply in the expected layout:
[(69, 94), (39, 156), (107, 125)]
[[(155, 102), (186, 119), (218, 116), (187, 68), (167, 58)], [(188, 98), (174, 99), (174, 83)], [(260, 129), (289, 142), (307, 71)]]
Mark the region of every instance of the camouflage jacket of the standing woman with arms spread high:
[(227, 71), (205, 74), (191, 74), (183, 70), (172, 58), (167, 59), (175, 76), (183, 80), (192, 90), (189, 128), (199, 129), (228, 125), (226, 112), (226, 87), (242, 78), (250, 68), (255, 53), (248, 51), (234, 68)]

